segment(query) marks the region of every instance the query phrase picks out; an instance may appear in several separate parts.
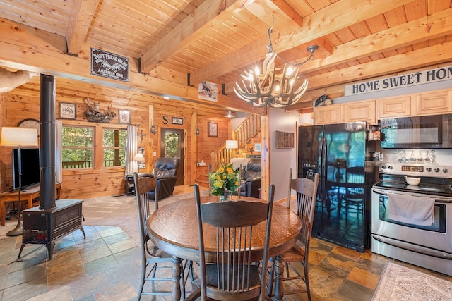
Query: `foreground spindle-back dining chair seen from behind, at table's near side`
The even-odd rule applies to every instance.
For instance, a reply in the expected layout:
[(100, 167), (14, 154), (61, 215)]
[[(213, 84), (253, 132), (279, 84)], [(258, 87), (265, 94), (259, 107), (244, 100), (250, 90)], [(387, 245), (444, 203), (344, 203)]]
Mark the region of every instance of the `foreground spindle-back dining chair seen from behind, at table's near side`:
[[(199, 187), (194, 185), (200, 258), (199, 290), (188, 300), (265, 300), (265, 273), (259, 273), (256, 258), (251, 257), (254, 240), (262, 240), (263, 269), (267, 267), (270, 222), (275, 186), (270, 185), (268, 202), (226, 201), (201, 204)], [(265, 238), (254, 235), (254, 227), (266, 223)], [(213, 228), (212, 228), (213, 227)], [(215, 256), (206, 257), (204, 231), (215, 231)], [(257, 259), (257, 260), (258, 260)]]

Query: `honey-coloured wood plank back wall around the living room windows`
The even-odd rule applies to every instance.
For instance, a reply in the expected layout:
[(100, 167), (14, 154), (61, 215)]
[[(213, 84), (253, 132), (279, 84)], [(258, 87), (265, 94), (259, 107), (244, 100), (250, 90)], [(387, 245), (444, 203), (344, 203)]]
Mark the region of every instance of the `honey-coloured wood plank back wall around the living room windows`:
[[(1, 126), (17, 126), (25, 118), (40, 118), (40, 80), (35, 77), (27, 84), (17, 87), (9, 93), (1, 94)], [(76, 104), (76, 120), (61, 119), (64, 125), (95, 125), (97, 127), (112, 126), (126, 128), (127, 124), (118, 123), (118, 117), (110, 123), (90, 123), (85, 118), (87, 106), (85, 99), (90, 102), (100, 102), (100, 109), (107, 110), (112, 105), (112, 111), (129, 110), (131, 124), (137, 125), (138, 147), (145, 148), (146, 169), (150, 172), (155, 159), (160, 156), (160, 129), (181, 128), (185, 133), (185, 184), (194, 183), (196, 162), (209, 162), (212, 152), (225, 143), (228, 138), (230, 120), (223, 117), (225, 110), (205, 104), (194, 104), (174, 99), (143, 94), (140, 92), (118, 90), (111, 87), (97, 86), (76, 80), (57, 78), (56, 118), (59, 118), (59, 102)], [(150, 110), (152, 109), (152, 110)], [(149, 116), (153, 111), (153, 116)], [(196, 123), (191, 118), (196, 116)], [(172, 117), (183, 118), (182, 125), (172, 124)], [(218, 137), (207, 137), (207, 122), (218, 123)], [(155, 135), (150, 133), (150, 125), (157, 128)], [(199, 135), (196, 135), (196, 124)], [(195, 145), (196, 152), (191, 151)], [(156, 152), (157, 156), (153, 156)], [(195, 156), (195, 158), (194, 158)], [(11, 147), (0, 147), (0, 183), (1, 191), (11, 188)], [(85, 199), (105, 195), (121, 195), (124, 193), (124, 168), (93, 169), (64, 169), (61, 198)]]

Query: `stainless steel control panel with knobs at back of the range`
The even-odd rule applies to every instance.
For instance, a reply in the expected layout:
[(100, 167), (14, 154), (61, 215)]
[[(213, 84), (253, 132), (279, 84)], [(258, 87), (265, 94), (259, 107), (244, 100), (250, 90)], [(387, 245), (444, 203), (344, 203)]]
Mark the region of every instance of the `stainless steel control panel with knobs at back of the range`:
[(404, 163), (381, 163), (379, 173), (407, 176), (427, 176), (436, 178), (452, 178), (452, 166), (426, 165), (426, 164), (404, 164)]

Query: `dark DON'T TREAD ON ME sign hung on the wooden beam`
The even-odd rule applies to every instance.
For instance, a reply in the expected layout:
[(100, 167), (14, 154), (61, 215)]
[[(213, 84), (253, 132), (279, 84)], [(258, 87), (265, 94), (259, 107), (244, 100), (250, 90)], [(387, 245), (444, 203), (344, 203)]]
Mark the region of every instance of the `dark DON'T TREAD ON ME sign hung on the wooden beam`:
[(129, 58), (91, 47), (91, 74), (129, 82)]

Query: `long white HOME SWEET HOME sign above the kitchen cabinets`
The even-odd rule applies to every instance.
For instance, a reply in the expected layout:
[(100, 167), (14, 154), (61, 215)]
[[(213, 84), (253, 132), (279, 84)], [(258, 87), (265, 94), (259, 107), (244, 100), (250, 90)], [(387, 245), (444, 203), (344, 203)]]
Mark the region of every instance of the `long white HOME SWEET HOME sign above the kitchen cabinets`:
[(422, 85), (429, 82), (439, 82), (441, 80), (452, 80), (452, 66), (347, 85), (345, 86), (344, 94), (345, 96), (364, 94), (369, 92), (397, 89), (401, 87)]

